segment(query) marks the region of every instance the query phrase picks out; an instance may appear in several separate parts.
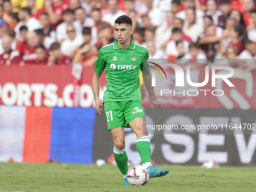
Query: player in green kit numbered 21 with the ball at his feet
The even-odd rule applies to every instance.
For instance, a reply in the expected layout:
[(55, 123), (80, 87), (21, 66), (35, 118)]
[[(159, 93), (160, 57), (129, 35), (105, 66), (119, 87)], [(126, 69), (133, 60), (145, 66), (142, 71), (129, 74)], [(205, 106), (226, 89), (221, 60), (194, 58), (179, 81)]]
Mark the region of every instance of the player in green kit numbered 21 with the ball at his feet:
[[(151, 72), (147, 64), (148, 50), (131, 39), (133, 28), (130, 17), (125, 15), (118, 17), (115, 20), (114, 32), (117, 40), (99, 50), (94, 66), (92, 87), (96, 110), (102, 114), (103, 107), (108, 130), (111, 130), (114, 159), (123, 174), (123, 184), (130, 185), (126, 175), (128, 157), (125, 151), (124, 127), (130, 127), (136, 133), (136, 148), (142, 159), (142, 166), (148, 169), (150, 178), (162, 177), (169, 173), (168, 169), (151, 166), (151, 145), (145, 126), (139, 84), (140, 71), (151, 102), (155, 108), (161, 108), (161, 111), (163, 108), (154, 96), (154, 87), (151, 87)], [(99, 78), (104, 69), (108, 83), (102, 106), (102, 100), (99, 99)]]

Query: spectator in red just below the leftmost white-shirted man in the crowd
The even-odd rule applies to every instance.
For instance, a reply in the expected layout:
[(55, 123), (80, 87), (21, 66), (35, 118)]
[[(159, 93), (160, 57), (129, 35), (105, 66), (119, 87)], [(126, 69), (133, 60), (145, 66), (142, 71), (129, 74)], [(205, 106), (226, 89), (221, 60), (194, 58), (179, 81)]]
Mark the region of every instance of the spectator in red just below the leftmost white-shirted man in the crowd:
[(35, 32), (27, 33), (26, 41), (21, 41), (17, 47), (17, 50), (19, 50), (20, 56), (23, 59), (20, 62), (20, 66), (35, 63), (36, 59), (38, 59), (38, 57), (35, 54), (35, 46), (39, 43), (40, 38)]

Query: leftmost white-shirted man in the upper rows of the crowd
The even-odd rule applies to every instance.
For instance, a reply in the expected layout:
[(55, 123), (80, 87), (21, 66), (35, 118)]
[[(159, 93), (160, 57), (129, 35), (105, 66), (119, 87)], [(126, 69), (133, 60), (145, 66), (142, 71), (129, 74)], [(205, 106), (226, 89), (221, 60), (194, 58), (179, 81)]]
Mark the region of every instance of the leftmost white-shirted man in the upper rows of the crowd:
[(27, 26), (29, 32), (34, 31), (35, 29), (42, 28), (41, 23), (35, 19), (35, 17), (31, 16), (31, 9), (30, 8), (21, 8), (19, 11), (19, 18), (21, 21), (20, 26)]

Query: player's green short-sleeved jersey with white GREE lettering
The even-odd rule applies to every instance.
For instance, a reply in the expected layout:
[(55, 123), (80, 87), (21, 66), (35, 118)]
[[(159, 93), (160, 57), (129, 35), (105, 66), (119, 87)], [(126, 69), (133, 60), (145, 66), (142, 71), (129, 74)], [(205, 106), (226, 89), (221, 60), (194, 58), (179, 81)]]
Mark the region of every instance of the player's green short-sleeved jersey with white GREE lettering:
[(139, 84), (140, 70), (148, 70), (148, 50), (131, 41), (130, 47), (121, 49), (117, 40), (102, 47), (94, 66), (94, 72), (108, 81), (103, 102), (142, 100)]

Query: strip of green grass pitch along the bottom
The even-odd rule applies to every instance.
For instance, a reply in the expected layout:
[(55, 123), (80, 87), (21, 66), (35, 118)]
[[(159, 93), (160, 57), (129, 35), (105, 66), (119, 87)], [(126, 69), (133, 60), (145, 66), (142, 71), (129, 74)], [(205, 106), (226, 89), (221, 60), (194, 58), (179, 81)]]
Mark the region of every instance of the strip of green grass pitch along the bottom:
[(169, 169), (145, 186), (123, 186), (117, 166), (0, 163), (0, 191), (256, 191), (255, 167), (157, 166)]

